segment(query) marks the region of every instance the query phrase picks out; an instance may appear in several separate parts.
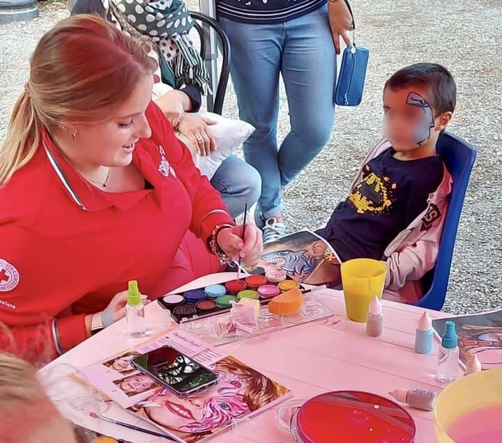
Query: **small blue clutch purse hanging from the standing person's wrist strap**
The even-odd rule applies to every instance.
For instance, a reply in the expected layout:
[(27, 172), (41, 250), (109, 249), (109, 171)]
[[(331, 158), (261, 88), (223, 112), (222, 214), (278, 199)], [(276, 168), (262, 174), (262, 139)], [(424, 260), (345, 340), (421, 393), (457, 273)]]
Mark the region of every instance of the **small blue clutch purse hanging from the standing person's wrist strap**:
[(352, 15), (352, 45), (344, 49), (342, 65), (338, 73), (335, 88), (335, 104), (339, 106), (358, 106), (363, 100), (363, 90), (366, 78), (366, 68), (370, 51), (362, 46), (356, 45), (355, 29), (356, 22), (349, 0), (345, 0)]

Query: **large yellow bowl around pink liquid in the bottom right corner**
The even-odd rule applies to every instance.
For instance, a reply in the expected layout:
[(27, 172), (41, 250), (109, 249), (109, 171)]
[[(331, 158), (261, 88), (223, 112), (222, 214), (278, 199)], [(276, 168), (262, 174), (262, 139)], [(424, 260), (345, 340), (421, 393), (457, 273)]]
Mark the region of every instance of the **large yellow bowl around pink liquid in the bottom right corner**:
[(438, 442), (455, 443), (446, 434), (451, 424), (467, 412), (487, 406), (502, 406), (502, 369), (466, 375), (452, 382), (439, 394), (434, 405)]

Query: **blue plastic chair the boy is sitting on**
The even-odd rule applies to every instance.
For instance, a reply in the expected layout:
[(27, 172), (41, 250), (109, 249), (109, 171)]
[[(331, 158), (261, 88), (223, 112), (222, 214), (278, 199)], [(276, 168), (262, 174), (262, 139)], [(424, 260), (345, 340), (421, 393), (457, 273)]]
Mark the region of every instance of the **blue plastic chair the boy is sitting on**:
[(455, 238), (467, 185), (469, 185), (469, 178), (476, 160), (476, 148), (449, 132), (443, 132), (439, 136), (437, 152), (450, 171), (453, 187), (439, 243), (436, 266), (425, 275), (425, 294), (414, 304), (439, 311), (446, 298)]

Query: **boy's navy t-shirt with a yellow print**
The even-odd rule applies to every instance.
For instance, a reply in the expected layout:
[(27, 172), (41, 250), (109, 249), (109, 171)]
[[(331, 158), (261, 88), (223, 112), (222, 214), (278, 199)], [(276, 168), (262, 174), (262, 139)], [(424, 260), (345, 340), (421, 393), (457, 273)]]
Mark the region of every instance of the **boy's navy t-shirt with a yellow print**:
[(443, 180), (439, 157), (404, 161), (394, 154), (390, 148), (365, 164), (361, 182), (317, 231), (342, 261), (381, 260), (388, 244), (427, 208), (429, 194)]

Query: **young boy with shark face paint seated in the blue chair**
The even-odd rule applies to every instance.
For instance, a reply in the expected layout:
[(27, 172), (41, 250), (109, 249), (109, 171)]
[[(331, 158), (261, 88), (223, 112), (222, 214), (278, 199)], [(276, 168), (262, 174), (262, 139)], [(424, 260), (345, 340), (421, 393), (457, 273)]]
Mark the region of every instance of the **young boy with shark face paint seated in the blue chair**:
[[(398, 300), (420, 296), (418, 281), (436, 261), (451, 186), (436, 142), (450, 123), (456, 95), (441, 65), (417, 63), (395, 72), (383, 88), (387, 140), (370, 152), (347, 200), (317, 231), (342, 262), (386, 261), (386, 287), (401, 292)], [(413, 287), (403, 295), (406, 284)]]

